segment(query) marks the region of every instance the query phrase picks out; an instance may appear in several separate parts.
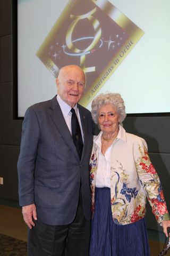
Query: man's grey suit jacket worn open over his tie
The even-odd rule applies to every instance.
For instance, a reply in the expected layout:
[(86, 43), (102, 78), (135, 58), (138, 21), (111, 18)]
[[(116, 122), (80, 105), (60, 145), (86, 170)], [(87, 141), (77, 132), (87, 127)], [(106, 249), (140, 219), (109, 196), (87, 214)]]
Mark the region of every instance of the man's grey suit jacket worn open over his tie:
[(81, 161), (56, 96), (29, 107), (22, 125), (18, 160), (20, 205), (36, 204), (37, 217), (48, 225), (66, 225), (75, 217), (80, 182), (83, 209), (91, 218), (89, 158), (93, 122), (78, 105), (84, 134)]

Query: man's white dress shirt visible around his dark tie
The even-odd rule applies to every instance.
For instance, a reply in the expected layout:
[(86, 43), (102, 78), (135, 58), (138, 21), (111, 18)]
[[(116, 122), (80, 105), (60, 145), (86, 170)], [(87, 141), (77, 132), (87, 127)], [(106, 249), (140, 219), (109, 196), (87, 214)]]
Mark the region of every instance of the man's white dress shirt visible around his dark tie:
[[(68, 126), (68, 128), (70, 130), (70, 133), (72, 134), (72, 131), (71, 131), (71, 116), (72, 116), (72, 113), (70, 111), (71, 107), (65, 101), (63, 101), (58, 94), (57, 94), (56, 98), (57, 98), (58, 104), (60, 105), (60, 108), (62, 110), (66, 125)], [(77, 115), (77, 118), (78, 118), (78, 121), (79, 121), (82, 140), (84, 141), (83, 130), (82, 130), (82, 125), (81, 125), (81, 120), (80, 120), (80, 113), (79, 113), (79, 109), (78, 109), (77, 104), (74, 106), (74, 110), (75, 110), (75, 114)]]

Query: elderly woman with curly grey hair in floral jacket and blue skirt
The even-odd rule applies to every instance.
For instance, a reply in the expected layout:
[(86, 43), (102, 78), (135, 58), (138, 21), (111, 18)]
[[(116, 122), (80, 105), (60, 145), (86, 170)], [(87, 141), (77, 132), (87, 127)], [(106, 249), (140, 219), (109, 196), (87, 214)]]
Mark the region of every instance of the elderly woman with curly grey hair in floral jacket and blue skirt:
[(90, 159), (90, 256), (148, 256), (146, 197), (166, 236), (170, 217), (147, 143), (123, 129), (120, 94), (100, 94), (92, 101), (91, 114), (101, 132)]

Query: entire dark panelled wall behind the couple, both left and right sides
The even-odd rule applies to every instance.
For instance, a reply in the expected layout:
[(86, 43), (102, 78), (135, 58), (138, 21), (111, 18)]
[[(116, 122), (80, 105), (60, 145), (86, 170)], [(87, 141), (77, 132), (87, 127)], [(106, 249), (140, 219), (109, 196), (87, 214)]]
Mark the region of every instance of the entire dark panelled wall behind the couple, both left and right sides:
[[(14, 2), (15, 0), (13, 0)], [(16, 163), (21, 139), (22, 120), (13, 118), (13, 82), (14, 73), (12, 40), (15, 31), (12, 28), (12, 0), (0, 1), (0, 197), (18, 201), (18, 177)], [(15, 63), (14, 63), (15, 65)], [(154, 92), (153, 92), (154, 97)], [(158, 102), (159, 104), (159, 102)], [(135, 108), (135, 106), (134, 106)], [(162, 181), (165, 199), (169, 203), (170, 177), (170, 116), (126, 117), (124, 127), (128, 132), (146, 139), (149, 155)], [(147, 207), (147, 227), (160, 229), (151, 209)]]

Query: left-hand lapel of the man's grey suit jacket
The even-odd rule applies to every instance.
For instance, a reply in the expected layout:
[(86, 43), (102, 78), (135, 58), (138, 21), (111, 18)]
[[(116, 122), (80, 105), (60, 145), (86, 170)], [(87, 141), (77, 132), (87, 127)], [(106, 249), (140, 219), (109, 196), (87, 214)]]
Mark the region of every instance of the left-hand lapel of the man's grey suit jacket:
[(69, 128), (65, 123), (65, 119), (64, 119), (62, 110), (60, 108), (60, 105), (58, 104), (58, 101), (56, 99), (56, 96), (50, 101), (50, 109), (52, 109), (51, 111), (52, 120), (55, 126), (57, 127), (58, 131), (61, 133), (63, 140), (67, 143), (68, 147), (70, 147), (70, 149), (73, 151), (75, 156), (79, 159), (77, 149), (75, 148)]

